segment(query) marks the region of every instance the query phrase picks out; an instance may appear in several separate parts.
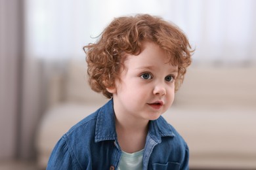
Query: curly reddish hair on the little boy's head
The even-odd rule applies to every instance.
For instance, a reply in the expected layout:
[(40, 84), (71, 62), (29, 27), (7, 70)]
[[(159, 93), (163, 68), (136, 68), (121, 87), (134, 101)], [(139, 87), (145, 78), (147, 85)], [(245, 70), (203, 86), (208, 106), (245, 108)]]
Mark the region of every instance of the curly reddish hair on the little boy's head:
[(186, 35), (174, 24), (149, 14), (137, 14), (115, 18), (104, 29), (100, 39), (83, 47), (87, 54), (89, 85), (95, 92), (112, 97), (106, 88), (114, 87), (125, 55), (140, 53), (143, 41), (152, 41), (169, 56), (169, 61), (178, 66), (175, 90), (181, 86), (186, 67), (192, 61), (191, 46)]

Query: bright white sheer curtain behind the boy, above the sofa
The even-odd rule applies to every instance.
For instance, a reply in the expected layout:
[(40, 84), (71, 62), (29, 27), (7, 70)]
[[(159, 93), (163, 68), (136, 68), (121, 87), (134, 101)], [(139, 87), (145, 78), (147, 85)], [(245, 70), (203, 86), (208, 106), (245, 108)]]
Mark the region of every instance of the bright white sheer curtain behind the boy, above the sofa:
[(256, 1), (26, 0), (28, 54), (44, 59), (82, 58), (116, 16), (150, 13), (179, 25), (196, 48), (194, 61), (241, 63), (256, 59)]

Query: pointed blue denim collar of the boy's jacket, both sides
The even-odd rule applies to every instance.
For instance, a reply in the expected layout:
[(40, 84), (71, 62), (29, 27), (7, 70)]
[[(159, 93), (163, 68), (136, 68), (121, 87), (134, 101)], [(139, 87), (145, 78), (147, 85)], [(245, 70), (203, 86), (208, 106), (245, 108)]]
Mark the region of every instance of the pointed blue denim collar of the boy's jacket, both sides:
[[(150, 121), (148, 135), (156, 143), (161, 143), (161, 137), (174, 137), (171, 126), (166, 120), (160, 116), (157, 120)], [(113, 107), (113, 99), (110, 99), (103, 107), (98, 110), (98, 117), (96, 120), (95, 142), (116, 140), (116, 124)]]

